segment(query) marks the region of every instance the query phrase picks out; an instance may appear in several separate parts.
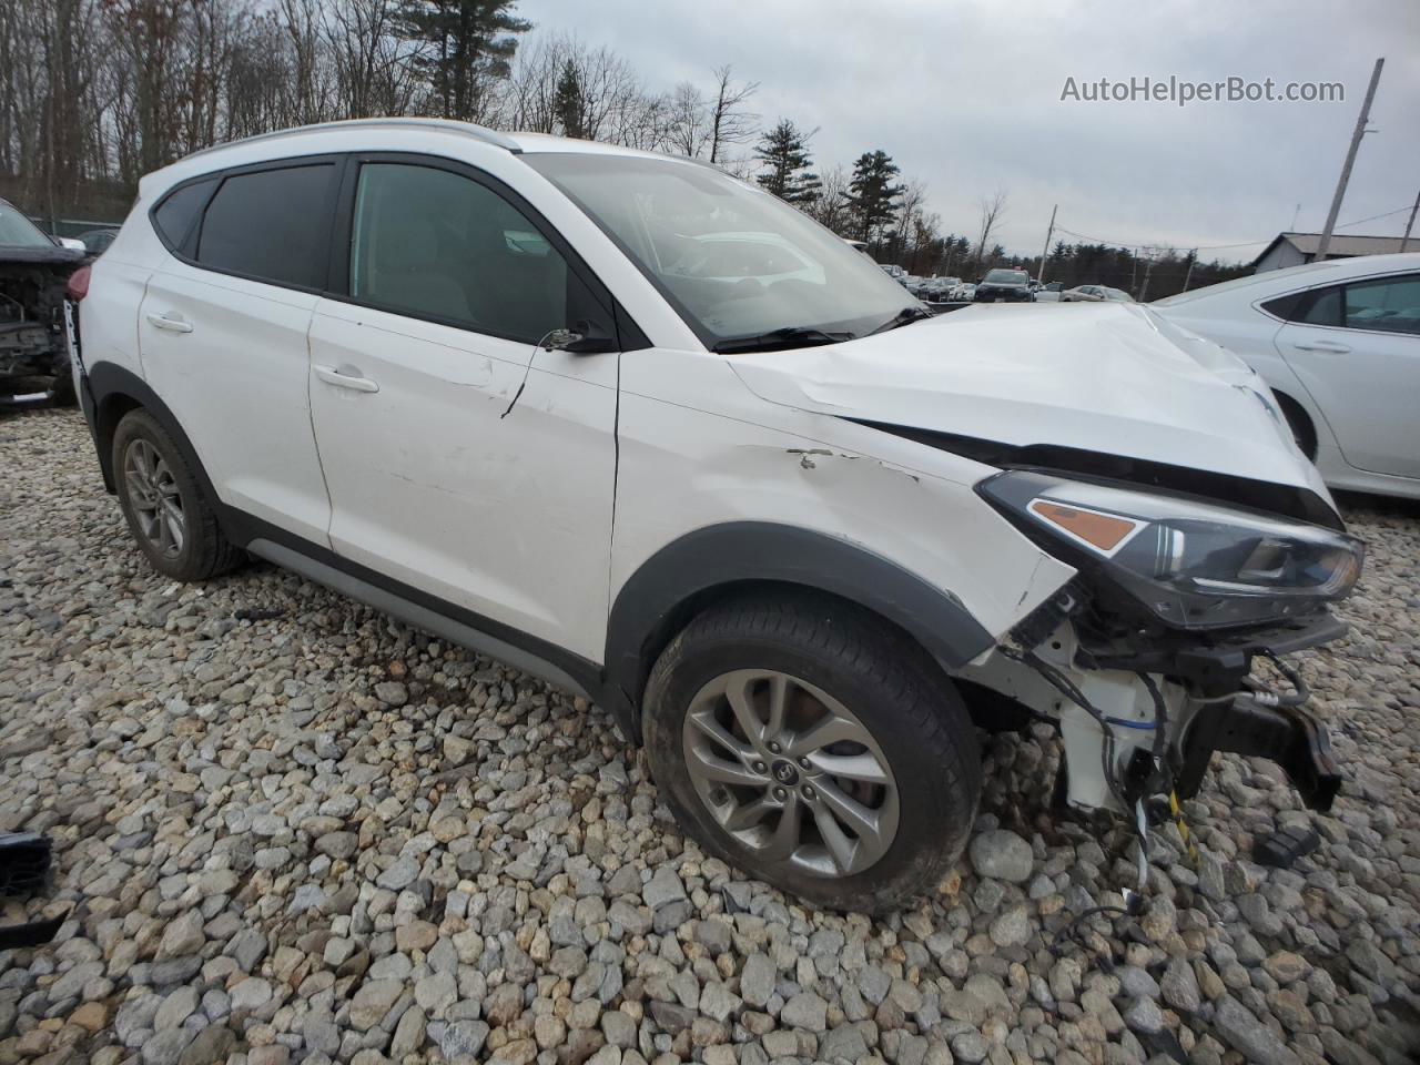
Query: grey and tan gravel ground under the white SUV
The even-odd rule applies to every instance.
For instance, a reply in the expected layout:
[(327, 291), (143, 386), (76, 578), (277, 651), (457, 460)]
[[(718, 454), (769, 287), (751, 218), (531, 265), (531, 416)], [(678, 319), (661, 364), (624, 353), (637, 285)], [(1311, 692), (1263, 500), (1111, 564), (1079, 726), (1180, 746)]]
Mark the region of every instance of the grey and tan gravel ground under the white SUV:
[[(1048, 731), (984, 738), (960, 869), (869, 920), (700, 853), (608, 714), (251, 565), (155, 577), (82, 422), (0, 422), (0, 829), (57, 941), (0, 953), (0, 1062), (1402, 1062), (1420, 1047), (1420, 508), (1349, 507), (1353, 633), (1309, 653), (1331, 816), (1214, 763), (1154, 838), (1052, 818)], [(1315, 824), (1296, 869), (1255, 835)], [(1110, 963), (1105, 954), (1113, 951)]]

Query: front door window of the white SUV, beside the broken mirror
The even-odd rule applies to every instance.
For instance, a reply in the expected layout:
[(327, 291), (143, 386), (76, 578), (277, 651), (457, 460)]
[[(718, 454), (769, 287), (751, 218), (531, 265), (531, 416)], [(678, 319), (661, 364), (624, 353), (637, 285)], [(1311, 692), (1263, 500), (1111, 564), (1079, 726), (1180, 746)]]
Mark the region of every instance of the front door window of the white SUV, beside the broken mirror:
[(517, 207), (459, 173), (364, 163), (351, 229), (359, 302), (535, 344), (569, 325), (575, 274)]

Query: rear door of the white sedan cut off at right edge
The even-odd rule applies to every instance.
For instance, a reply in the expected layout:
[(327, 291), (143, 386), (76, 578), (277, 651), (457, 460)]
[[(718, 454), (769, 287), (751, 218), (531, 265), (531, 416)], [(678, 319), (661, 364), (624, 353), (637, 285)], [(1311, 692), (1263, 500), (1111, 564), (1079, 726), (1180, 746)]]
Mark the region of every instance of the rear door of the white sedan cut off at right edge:
[[(1278, 354), (1359, 470), (1420, 477), (1420, 274), (1304, 293), (1282, 308)], [(1277, 312), (1274, 310), (1274, 312)]]

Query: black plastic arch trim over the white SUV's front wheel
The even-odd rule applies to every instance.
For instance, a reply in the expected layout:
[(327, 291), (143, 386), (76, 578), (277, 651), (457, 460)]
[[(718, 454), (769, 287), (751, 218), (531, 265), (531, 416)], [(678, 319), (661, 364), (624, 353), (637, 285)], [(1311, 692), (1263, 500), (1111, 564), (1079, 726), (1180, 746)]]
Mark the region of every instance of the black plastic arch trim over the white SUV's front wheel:
[(731, 521), (672, 541), (622, 585), (606, 623), (606, 686), (640, 706), (655, 659), (689, 621), (686, 605), (753, 584), (798, 585), (855, 602), (905, 629), (949, 669), (995, 646), (956, 595), (869, 548), (797, 525)]

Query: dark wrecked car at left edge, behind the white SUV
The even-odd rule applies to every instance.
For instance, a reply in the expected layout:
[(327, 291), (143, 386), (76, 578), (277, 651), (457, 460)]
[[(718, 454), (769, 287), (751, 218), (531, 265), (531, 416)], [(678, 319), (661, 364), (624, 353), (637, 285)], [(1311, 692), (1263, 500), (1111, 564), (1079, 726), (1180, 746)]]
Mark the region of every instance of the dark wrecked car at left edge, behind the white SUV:
[(0, 200), (0, 402), (74, 402), (64, 293), (87, 254), (47, 237)]

